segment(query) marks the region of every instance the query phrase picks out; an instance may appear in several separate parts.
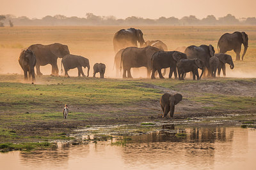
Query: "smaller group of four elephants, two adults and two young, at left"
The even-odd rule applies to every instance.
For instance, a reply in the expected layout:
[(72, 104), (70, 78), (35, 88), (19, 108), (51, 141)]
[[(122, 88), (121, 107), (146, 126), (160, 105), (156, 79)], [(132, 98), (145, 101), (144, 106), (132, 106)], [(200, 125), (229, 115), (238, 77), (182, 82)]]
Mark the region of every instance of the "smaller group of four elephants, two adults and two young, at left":
[[(52, 66), (52, 75), (58, 75), (58, 58), (62, 58), (61, 73), (63, 71), (63, 65), (65, 76), (69, 77), (68, 71), (74, 68), (78, 69), (78, 76), (81, 76), (81, 74), (85, 76), (82, 67), (87, 67), (87, 76), (89, 76), (90, 62), (88, 59), (79, 55), (70, 54), (67, 45), (53, 43), (51, 45), (31, 45), (20, 53), (19, 64), (24, 71), (24, 79), (28, 80), (29, 74), (29, 77), (32, 76), (32, 81), (35, 81), (35, 67), (36, 74), (40, 76), (42, 75), (40, 66), (47, 64), (51, 64)], [(95, 63), (93, 66), (93, 77), (95, 77), (96, 73), (100, 73), (100, 78), (104, 78), (105, 69), (105, 64)]]

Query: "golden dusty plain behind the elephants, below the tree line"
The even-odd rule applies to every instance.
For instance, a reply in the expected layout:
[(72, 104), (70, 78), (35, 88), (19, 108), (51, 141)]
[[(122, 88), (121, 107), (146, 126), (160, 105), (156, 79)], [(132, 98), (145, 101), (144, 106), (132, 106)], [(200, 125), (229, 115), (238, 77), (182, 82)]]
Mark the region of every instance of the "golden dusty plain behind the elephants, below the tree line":
[[(116, 76), (116, 68), (114, 67), (115, 52), (113, 50), (113, 36), (116, 31), (124, 27), (16, 27), (15, 30), (10, 28), (4, 28), (0, 32), (0, 74), (23, 74), (21, 67), (19, 66), (19, 55), (22, 49), (35, 43), (41, 43), (44, 45), (51, 43), (62, 43), (68, 45), (71, 54), (81, 55), (90, 60), (90, 77), (93, 76), (93, 65), (96, 62), (102, 62), (106, 64), (105, 78), (122, 78), (122, 71), (119, 76)], [(209, 28), (205, 27), (203, 31), (202, 27), (140, 27), (144, 32), (144, 39), (161, 39), (169, 50), (176, 50), (184, 48), (189, 45), (200, 44), (212, 44), (216, 47), (219, 35), (222, 34), (221, 29), (214, 27), (212, 29), (212, 35), (209, 37), (209, 41), (205, 39), (198, 39), (195, 43), (195, 38), (198, 38), (198, 34), (202, 34), (202, 37), (209, 36)], [(179, 31), (177, 31), (179, 29)], [(228, 27), (232, 32), (236, 28)], [(241, 28), (240, 28), (241, 29)], [(247, 29), (246, 27), (244, 29)], [(250, 34), (250, 31), (247, 31)], [(148, 33), (148, 34), (147, 34)], [(253, 33), (253, 32), (251, 32)], [(254, 32), (255, 34), (255, 32)], [(41, 39), (40, 39), (41, 38)], [(38, 41), (40, 39), (40, 41)], [(214, 41), (212, 41), (214, 39)], [(230, 69), (226, 65), (227, 77), (234, 78), (255, 78), (256, 77), (256, 64), (253, 54), (255, 53), (254, 46), (248, 48), (248, 52), (244, 57), (244, 61), (234, 61), (234, 69)], [(234, 52), (232, 57), (234, 56)], [(249, 57), (248, 57), (249, 55)], [(58, 59), (59, 75), (64, 76), (64, 71), (61, 73), (61, 59)], [(41, 72), (44, 75), (51, 74), (51, 65), (40, 66)], [(35, 69), (36, 70), (36, 69)], [(84, 69), (84, 74), (87, 75), (87, 68)], [(119, 71), (119, 69), (118, 69)], [(70, 76), (77, 76), (78, 71), (76, 69), (70, 69), (68, 71)], [(132, 69), (131, 74), (133, 78), (147, 78), (147, 69), (140, 67), (139, 69)], [(222, 73), (221, 73), (222, 76)], [(99, 78), (99, 73), (96, 74)], [(168, 78), (168, 72), (164, 76)], [(188, 77), (189, 78), (189, 77)]]

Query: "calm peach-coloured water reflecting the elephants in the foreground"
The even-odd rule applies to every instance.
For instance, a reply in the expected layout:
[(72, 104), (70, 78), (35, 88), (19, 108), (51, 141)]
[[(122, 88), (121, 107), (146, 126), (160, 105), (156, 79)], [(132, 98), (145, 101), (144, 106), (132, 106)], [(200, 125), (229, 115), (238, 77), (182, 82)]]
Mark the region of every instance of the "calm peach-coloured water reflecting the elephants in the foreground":
[[(256, 131), (241, 127), (189, 127), (175, 136), (163, 130), (116, 139), (65, 146), (56, 150), (0, 153), (1, 169), (255, 169)], [(118, 137), (123, 138), (123, 137)]]

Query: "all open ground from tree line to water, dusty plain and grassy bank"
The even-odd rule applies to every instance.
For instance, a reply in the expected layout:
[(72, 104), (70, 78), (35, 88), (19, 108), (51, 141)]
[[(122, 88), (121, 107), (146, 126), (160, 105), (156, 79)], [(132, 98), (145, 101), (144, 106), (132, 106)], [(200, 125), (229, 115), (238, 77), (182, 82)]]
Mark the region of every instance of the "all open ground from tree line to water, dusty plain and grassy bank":
[[(72, 139), (68, 134), (79, 127), (161, 120), (159, 98), (164, 92), (182, 94), (182, 102), (175, 107), (178, 120), (225, 113), (255, 114), (256, 27), (140, 27), (146, 41), (161, 39), (169, 50), (201, 44), (216, 48), (223, 33), (245, 31), (250, 40), (244, 61), (235, 62), (232, 71), (227, 68), (227, 78), (200, 81), (115, 78), (112, 38), (121, 28), (0, 28), (0, 143), (68, 140)], [(54, 42), (87, 57), (91, 66), (106, 63), (106, 79), (77, 78), (74, 69), (71, 78), (36, 76), (35, 84), (25, 82), (17, 62), (22, 48)], [(234, 52), (228, 53), (235, 57)], [(60, 59), (58, 64), (60, 68)], [(50, 74), (51, 66), (42, 67), (42, 73)], [(145, 75), (142, 71), (137, 77)], [(66, 103), (70, 114), (63, 120)]]

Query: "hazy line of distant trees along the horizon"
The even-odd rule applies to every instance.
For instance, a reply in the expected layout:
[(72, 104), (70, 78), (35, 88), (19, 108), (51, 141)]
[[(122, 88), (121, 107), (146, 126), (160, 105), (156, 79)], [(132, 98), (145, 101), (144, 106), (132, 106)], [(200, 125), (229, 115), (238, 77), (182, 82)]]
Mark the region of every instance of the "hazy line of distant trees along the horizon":
[(47, 15), (42, 19), (15, 17), (14, 15), (0, 15), (0, 26), (10, 25), (256, 25), (255, 17), (236, 18), (228, 14), (225, 17), (216, 18), (214, 15), (208, 15), (201, 20), (195, 15), (188, 17), (160, 17), (158, 19), (127, 17), (125, 19), (114, 16), (97, 16), (93, 13), (86, 13), (85, 17), (65, 17), (64, 15)]

